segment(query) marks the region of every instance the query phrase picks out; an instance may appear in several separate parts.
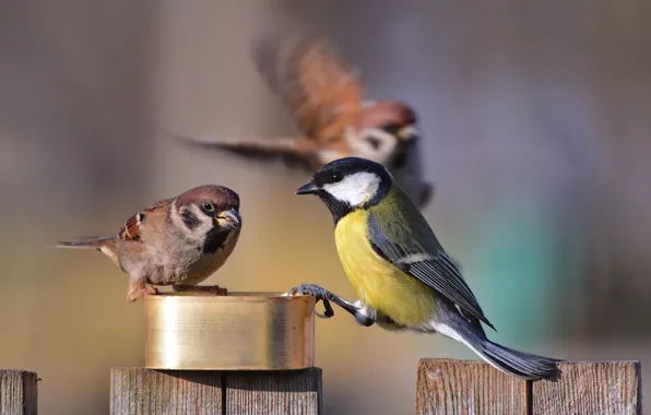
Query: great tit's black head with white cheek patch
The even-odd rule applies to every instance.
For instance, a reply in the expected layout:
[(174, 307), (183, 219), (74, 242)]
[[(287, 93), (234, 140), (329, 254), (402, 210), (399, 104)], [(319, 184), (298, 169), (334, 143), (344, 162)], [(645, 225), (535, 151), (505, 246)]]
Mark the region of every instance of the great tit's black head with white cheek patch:
[(318, 195), (336, 222), (351, 211), (379, 203), (392, 183), (391, 175), (381, 164), (360, 157), (345, 157), (319, 168), (312, 181), (299, 188), (296, 194)]

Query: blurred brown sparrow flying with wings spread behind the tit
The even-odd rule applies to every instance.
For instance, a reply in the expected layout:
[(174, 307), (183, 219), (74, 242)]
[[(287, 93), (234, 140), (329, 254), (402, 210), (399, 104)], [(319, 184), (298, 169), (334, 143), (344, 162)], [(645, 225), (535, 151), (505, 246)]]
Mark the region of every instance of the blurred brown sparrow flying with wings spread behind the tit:
[(252, 156), (298, 158), (310, 170), (334, 159), (360, 156), (386, 165), (407, 194), (424, 206), (433, 186), (424, 181), (416, 143), (416, 112), (405, 103), (369, 102), (364, 84), (323, 37), (276, 22), (252, 43), (260, 75), (291, 111), (300, 135), (285, 138), (188, 138), (196, 144)]

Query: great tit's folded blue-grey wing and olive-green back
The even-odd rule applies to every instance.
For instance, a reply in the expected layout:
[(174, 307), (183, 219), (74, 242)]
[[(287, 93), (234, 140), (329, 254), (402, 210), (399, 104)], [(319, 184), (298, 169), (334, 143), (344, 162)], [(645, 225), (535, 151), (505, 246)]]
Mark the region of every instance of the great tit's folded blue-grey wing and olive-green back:
[(390, 210), (369, 210), (368, 238), (372, 249), (406, 274), (454, 303), (462, 313), (473, 316), (495, 330), (427, 221), (404, 198), (406, 203), (386, 201), (392, 206)]

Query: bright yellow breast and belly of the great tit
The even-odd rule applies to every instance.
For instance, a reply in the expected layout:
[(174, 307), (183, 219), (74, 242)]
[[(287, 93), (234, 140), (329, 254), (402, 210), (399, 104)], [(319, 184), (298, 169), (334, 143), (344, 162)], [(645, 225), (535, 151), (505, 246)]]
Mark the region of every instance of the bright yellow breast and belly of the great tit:
[(434, 289), (378, 256), (368, 240), (368, 211), (342, 217), (334, 229), (342, 265), (365, 305), (402, 325), (418, 325), (436, 312)]

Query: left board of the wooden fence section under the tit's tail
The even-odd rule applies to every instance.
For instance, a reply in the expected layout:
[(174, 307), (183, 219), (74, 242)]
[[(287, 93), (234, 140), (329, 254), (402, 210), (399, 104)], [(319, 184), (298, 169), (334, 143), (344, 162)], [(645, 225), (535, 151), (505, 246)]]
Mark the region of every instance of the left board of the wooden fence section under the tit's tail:
[(418, 361), (416, 414), (526, 414), (526, 381), (483, 361)]

